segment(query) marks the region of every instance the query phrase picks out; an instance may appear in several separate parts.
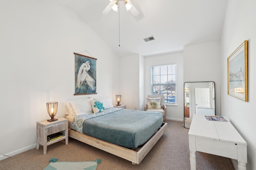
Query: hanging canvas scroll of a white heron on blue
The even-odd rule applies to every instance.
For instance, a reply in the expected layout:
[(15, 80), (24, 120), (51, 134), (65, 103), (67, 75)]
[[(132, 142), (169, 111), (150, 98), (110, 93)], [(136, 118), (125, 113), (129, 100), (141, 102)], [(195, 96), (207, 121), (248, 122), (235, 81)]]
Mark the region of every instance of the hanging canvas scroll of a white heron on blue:
[(96, 93), (96, 61), (97, 59), (74, 53), (75, 55), (75, 94)]

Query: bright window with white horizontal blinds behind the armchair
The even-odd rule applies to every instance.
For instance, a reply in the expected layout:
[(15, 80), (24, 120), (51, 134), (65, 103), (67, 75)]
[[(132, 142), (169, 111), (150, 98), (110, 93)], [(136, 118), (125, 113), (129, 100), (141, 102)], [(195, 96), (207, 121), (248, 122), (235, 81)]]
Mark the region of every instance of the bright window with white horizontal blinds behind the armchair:
[(162, 94), (165, 103), (176, 104), (176, 64), (151, 67), (151, 93)]

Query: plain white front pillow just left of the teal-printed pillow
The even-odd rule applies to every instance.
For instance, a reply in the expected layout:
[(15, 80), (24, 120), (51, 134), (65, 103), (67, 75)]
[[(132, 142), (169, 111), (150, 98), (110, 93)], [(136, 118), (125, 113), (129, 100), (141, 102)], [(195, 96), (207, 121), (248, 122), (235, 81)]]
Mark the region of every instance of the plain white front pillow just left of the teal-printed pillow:
[(93, 100), (93, 98), (70, 101), (70, 104), (71, 104), (72, 108), (74, 109), (74, 114), (75, 114), (74, 116), (93, 113), (90, 100)]

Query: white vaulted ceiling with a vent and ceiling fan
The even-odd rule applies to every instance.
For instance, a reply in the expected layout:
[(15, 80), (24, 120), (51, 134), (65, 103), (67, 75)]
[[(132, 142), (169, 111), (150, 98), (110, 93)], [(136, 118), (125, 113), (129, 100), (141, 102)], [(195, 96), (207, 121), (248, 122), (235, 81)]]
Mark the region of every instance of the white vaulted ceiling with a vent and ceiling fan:
[[(42, 1), (76, 12), (119, 56), (180, 51), (186, 45), (219, 41), (227, 4), (227, 0), (131, 0), (140, 12), (134, 17), (119, 2), (119, 32), (119, 12), (102, 14), (109, 0)], [(144, 41), (152, 35), (154, 41)]]

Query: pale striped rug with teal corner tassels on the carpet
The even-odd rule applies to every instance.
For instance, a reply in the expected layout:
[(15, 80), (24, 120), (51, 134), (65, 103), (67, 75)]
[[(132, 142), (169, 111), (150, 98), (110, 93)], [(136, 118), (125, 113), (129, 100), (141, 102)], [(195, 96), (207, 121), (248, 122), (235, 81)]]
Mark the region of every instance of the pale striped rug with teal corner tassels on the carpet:
[[(100, 161), (101, 162), (101, 161)], [(99, 161), (50, 162), (44, 170), (96, 170)]]

